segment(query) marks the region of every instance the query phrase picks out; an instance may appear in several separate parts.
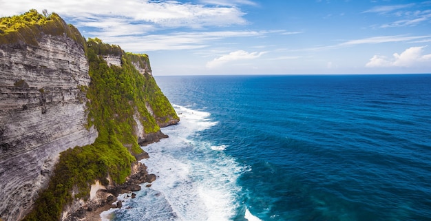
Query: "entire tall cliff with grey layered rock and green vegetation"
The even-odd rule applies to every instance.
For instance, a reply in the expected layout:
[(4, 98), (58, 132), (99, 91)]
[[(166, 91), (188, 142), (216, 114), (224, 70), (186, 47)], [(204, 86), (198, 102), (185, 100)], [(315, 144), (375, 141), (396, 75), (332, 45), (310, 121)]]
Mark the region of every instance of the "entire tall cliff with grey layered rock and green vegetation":
[(178, 120), (145, 54), (85, 41), (56, 14), (0, 20), (2, 220), (58, 220), (95, 180), (124, 182), (138, 142)]

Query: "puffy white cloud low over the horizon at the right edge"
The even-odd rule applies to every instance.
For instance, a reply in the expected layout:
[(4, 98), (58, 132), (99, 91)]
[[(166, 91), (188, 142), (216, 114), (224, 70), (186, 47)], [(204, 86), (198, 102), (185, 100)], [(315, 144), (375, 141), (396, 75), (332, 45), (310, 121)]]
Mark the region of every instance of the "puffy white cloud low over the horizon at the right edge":
[(366, 67), (414, 67), (429, 65), (431, 54), (423, 54), (423, 48), (425, 47), (408, 48), (401, 54), (393, 54), (392, 59), (388, 59), (386, 56), (372, 56), (370, 61), (366, 63)]

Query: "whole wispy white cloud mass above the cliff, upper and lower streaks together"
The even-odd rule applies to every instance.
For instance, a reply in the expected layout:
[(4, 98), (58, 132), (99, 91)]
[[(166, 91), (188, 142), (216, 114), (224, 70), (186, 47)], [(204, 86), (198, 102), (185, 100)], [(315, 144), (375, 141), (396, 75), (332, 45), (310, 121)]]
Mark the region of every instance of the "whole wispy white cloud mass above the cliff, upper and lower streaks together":
[[(232, 2), (253, 4), (253, 1), (248, 0)], [(85, 37), (96, 36), (106, 43), (121, 45), (124, 50), (131, 52), (204, 48), (219, 39), (284, 32), (202, 32), (207, 28), (247, 23), (243, 18), (245, 13), (229, 4), (209, 6), (204, 3), (163, 0), (128, 0), (121, 3), (115, 0), (0, 0), (0, 6), (0, 17), (20, 14), (31, 8), (39, 12), (44, 9), (48, 10), (48, 13), (56, 12), (80, 29)]]

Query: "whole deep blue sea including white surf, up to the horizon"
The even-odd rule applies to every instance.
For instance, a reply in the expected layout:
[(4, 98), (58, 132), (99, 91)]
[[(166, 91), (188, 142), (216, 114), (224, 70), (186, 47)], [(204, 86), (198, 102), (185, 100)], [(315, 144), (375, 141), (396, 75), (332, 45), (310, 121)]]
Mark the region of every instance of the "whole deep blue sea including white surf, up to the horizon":
[(181, 121), (112, 220), (431, 220), (431, 74), (156, 76)]

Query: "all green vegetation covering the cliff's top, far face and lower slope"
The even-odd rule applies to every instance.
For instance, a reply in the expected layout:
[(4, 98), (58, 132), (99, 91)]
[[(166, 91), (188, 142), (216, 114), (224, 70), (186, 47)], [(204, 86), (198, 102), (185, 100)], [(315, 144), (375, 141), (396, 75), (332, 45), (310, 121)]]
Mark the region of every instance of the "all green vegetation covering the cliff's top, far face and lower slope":
[[(45, 13), (44, 13), (45, 14)], [(74, 198), (88, 198), (91, 184), (100, 180), (107, 185), (110, 178), (119, 184), (131, 172), (134, 155), (143, 150), (138, 145), (136, 121), (140, 117), (145, 133), (160, 130), (159, 124), (178, 119), (167, 98), (149, 74), (140, 74), (133, 63), (148, 67), (145, 54), (125, 53), (117, 45), (108, 45), (100, 39), (85, 41), (72, 25), (65, 25), (56, 14), (41, 15), (36, 10), (0, 19), (0, 44), (27, 43), (38, 45), (43, 34), (67, 34), (82, 43), (90, 63), (92, 79), (89, 87), (78, 86), (88, 98), (87, 128), (95, 126), (98, 138), (92, 145), (74, 147), (60, 154), (48, 187), (39, 193), (32, 211), (24, 220), (59, 220), (65, 205)], [(122, 66), (107, 65), (103, 55), (121, 59)], [(25, 86), (17, 81), (15, 86)], [(41, 93), (43, 93), (43, 89)], [(154, 116), (147, 110), (151, 107)], [(73, 193), (72, 193), (73, 192)]]

